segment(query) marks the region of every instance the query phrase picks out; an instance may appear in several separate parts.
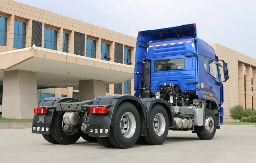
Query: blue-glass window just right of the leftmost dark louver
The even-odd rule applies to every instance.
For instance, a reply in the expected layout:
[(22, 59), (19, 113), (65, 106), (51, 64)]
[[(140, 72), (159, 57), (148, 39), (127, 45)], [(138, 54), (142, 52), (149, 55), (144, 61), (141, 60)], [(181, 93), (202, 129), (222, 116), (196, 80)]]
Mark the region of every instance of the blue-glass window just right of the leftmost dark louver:
[(57, 50), (57, 31), (44, 28), (44, 48)]

